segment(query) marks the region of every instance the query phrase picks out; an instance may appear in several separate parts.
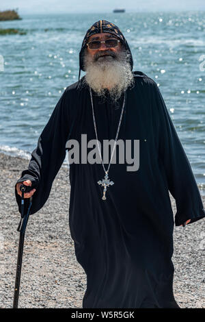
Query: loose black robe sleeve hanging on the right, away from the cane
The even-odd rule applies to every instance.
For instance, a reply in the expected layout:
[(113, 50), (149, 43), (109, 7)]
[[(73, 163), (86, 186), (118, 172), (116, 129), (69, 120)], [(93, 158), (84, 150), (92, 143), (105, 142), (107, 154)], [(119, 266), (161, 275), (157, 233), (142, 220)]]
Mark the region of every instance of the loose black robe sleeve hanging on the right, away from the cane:
[(167, 179), (169, 192), (176, 201), (175, 225), (191, 219), (193, 223), (205, 216), (205, 210), (191, 165), (180, 143), (157, 84), (154, 87), (154, 111), (158, 115), (158, 155)]

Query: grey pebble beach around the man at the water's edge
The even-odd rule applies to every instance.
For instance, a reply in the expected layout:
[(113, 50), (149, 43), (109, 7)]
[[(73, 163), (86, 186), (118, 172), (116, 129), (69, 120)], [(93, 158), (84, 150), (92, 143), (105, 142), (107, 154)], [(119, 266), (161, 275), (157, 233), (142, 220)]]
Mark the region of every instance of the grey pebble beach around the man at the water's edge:
[[(12, 308), (20, 220), (14, 186), (28, 164), (29, 160), (0, 153), (0, 308)], [(205, 206), (205, 196), (202, 200)], [(74, 254), (69, 201), (68, 167), (61, 166), (49, 199), (29, 218), (19, 308), (82, 308), (86, 275)], [(174, 227), (174, 297), (180, 308), (205, 308), (204, 237), (204, 219)]]

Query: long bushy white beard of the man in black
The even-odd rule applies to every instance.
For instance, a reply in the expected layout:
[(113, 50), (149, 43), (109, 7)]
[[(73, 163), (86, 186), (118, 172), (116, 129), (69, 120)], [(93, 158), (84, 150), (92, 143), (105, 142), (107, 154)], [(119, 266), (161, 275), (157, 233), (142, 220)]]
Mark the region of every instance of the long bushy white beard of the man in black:
[[(111, 51), (105, 51), (109, 53)], [(101, 53), (102, 54), (102, 53)], [(113, 54), (111, 52), (111, 54)], [(134, 84), (134, 77), (129, 62), (129, 51), (122, 49), (116, 57), (106, 55), (94, 60), (87, 51), (84, 55), (86, 75), (83, 84), (88, 84), (99, 96), (105, 97), (106, 89), (112, 101), (117, 101), (128, 86)]]

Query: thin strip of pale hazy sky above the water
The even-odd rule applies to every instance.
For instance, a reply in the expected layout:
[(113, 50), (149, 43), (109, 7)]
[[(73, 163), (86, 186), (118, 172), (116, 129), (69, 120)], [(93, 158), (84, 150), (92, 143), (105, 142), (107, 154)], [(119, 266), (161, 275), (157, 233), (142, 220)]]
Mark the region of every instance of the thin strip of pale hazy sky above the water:
[(19, 14), (107, 13), (115, 8), (126, 12), (205, 10), (204, 0), (1, 0), (0, 11), (18, 8)]

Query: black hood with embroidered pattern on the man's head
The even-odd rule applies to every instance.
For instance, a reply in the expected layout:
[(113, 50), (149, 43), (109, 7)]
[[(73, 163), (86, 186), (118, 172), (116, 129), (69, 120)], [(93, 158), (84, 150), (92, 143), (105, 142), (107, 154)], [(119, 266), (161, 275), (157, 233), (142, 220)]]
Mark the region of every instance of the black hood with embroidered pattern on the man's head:
[[(122, 44), (124, 47), (131, 53), (131, 49), (128, 46), (128, 43), (126, 39), (124, 38), (122, 32), (120, 32), (120, 29), (118, 26), (116, 26), (114, 23), (110, 23), (109, 21), (106, 20), (99, 20), (96, 23), (94, 23), (86, 32), (85, 37), (83, 39), (83, 43), (81, 46), (81, 51), (79, 53), (79, 80), (80, 80), (80, 75), (81, 75), (81, 69), (82, 71), (85, 71), (84, 66), (83, 66), (83, 51), (85, 50), (86, 44), (87, 44), (87, 39), (94, 35), (94, 34), (100, 34), (102, 32), (109, 32), (111, 34), (114, 34), (115, 36), (118, 36), (120, 40), (122, 41)], [(131, 58), (130, 58), (130, 63), (131, 63), (131, 70), (133, 70), (133, 56), (131, 53)]]

